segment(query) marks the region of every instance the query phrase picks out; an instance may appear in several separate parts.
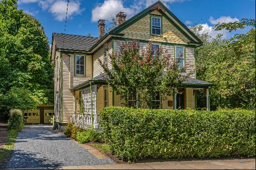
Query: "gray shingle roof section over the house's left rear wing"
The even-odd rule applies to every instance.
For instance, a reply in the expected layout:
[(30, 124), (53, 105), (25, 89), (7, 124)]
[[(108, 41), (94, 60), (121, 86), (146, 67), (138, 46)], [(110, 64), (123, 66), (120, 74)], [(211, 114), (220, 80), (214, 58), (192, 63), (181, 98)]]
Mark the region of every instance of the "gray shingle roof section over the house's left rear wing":
[[(98, 37), (53, 33), (56, 47), (59, 49), (87, 51), (99, 40)], [(64, 39), (64, 43), (63, 43)]]

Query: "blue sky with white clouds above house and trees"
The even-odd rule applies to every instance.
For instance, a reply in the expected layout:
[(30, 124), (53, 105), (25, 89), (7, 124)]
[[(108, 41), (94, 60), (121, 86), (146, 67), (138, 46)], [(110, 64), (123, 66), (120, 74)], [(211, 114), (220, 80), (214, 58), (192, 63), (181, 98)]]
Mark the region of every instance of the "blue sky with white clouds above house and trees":
[[(67, 34), (98, 36), (97, 21), (110, 20), (122, 11), (132, 17), (156, 0), (69, 0)], [(255, 0), (161, 0), (187, 26), (203, 24), (212, 36), (217, 22), (231, 22), (243, 18), (255, 19)], [(18, 0), (19, 9), (33, 15), (52, 41), (52, 33), (64, 33), (67, 0)], [(246, 31), (246, 30), (245, 30)], [(243, 31), (244, 32), (244, 31)]]

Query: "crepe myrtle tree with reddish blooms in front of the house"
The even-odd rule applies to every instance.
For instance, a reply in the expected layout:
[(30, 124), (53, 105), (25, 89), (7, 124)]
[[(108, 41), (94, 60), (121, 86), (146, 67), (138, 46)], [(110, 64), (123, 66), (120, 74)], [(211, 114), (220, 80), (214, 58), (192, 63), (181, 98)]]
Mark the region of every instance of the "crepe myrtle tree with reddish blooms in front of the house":
[[(120, 52), (111, 52), (112, 69), (99, 59), (106, 73), (104, 79), (128, 107), (161, 108), (168, 96), (179, 93), (179, 88), (192, 72), (186, 72), (189, 65), (179, 67), (180, 59), (162, 48), (153, 49), (152, 42), (140, 49), (140, 42), (117, 42)], [(108, 46), (104, 45), (105, 50)], [(179, 57), (182, 57), (182, 53)], [(186, 74), (182, 74), (186, 72)], [(161, 94), (160, 103), (152, 100)]]

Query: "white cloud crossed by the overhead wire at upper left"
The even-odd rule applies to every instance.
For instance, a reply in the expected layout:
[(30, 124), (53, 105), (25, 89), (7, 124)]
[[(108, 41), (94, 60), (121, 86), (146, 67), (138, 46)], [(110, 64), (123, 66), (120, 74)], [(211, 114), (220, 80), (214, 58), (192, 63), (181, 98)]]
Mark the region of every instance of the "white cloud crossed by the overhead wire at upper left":
[(74, 15), (81, 14), (83, 9), (80, 8), (80, 0), (73, 0), (68, 3), (67, 11), (67, 0), (20, 0), (19, 3), (38, 3), (43, 9), (53, 14), (54, 19), (62, 21), (67, 18), (73, 18)]

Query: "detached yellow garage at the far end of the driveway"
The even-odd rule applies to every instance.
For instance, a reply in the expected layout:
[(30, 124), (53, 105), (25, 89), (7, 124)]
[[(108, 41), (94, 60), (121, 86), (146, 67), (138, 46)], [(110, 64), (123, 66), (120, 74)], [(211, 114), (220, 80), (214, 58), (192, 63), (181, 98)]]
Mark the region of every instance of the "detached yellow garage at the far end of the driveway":
[(54, 105), (40, 105), (37, 110), (24, 111), (28, 124), (49, 124), (54, 116)]

